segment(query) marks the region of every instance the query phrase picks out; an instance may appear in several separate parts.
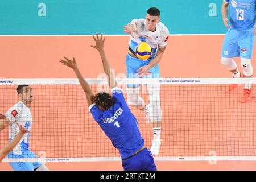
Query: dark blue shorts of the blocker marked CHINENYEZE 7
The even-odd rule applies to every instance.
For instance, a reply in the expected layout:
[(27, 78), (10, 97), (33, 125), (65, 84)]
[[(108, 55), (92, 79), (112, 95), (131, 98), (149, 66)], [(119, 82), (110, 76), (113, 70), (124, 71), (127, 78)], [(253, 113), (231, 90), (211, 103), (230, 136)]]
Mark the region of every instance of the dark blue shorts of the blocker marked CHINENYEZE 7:
[(122, 160), (122, 165), (125, 171), (156, 171), (153, 155), (147, 147), (131, 158)]

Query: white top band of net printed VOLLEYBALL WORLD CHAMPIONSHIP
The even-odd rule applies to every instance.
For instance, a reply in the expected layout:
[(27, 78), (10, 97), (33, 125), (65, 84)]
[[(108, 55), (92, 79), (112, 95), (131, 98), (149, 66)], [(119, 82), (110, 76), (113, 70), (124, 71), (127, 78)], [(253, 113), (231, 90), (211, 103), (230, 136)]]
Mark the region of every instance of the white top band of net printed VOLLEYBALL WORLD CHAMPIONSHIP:
[[(90, 85), (108, 85), (106, 79), (91, 78), (85, 80)], [(119, 85), (123, 84), (160, 84), (160, 85), (198, 85), (198, 84), (256, 84), (256, 78), (151, 78), (151, 79), (121, 79), (117, 78)], [(0, 79), (0, 85), (79, 85), (75, 78), (71, 79)]]

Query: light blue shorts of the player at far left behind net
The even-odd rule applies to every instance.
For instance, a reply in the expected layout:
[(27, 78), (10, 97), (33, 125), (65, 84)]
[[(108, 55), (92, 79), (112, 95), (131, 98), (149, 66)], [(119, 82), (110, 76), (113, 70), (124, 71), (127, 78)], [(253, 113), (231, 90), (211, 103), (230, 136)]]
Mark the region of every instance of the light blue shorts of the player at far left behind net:
[[(7, 158), (38, 158), (38, 156), (28, 150), (27, 154), (23, 155), (14, 155), (12, 152), (10, 152), (7, 155)], [(43, 163), (40, 162), (10, 162), (9, 164), (14, 169), (14, 171), (34, 171), (36, 168), (43, 165)]]

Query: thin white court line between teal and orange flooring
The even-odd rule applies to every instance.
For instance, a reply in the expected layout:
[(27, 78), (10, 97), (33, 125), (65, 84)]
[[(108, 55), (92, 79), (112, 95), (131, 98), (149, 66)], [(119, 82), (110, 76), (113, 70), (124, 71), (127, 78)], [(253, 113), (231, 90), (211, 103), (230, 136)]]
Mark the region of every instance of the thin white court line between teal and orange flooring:
[[(92, 34), (94, 35), (94, 34)], [(1, 36), (92, 36), (92, 35), (0, 35)], [(170, 34), (170, 36), (212, 36), (225, 34)], [(130, 35), (104, 35), (104, 36), (130, 36)]]

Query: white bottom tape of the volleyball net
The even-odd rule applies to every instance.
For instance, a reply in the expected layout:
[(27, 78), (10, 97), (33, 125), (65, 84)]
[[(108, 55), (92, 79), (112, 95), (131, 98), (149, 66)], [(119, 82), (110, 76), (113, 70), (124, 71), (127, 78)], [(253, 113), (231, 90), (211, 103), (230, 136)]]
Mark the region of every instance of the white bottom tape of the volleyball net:
[[(204, 157), (158, 157), (156, 161), (220, 161), (220, 160), (239, 160), (256, 161), (256, 156), (204, 156)], [(3, 159), (3, 162), (108, 162), (121, 161), (120, 157), (105, 158), (23, 158), (23, 159)]]

